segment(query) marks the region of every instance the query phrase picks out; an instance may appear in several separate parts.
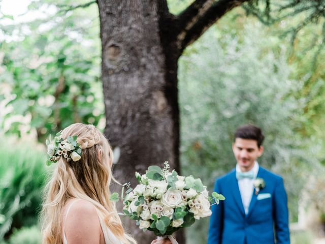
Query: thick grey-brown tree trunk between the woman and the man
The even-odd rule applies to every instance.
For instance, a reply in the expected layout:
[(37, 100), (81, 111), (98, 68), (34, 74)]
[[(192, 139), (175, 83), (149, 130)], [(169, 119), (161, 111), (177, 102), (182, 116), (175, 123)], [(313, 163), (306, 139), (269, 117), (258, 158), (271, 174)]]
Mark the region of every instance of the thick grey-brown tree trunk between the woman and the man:
[[(168, 13), (161, 2), (98, 1), (105, 135), (113, 148), (120, 149), (115, 178), (121, 183), (131, 181), (132, 186), (137, 184), (135, 171), (143, 174), (150, 165), (169, 161), (179, 172), (179, 51), (173, 43), (161, 41), (161, 15)], [(142, 232), (135, 221), (122, 221), (138, 243), (155, 238), (150, 231)], [(185, 243), (182, 236), (177, 238)]]

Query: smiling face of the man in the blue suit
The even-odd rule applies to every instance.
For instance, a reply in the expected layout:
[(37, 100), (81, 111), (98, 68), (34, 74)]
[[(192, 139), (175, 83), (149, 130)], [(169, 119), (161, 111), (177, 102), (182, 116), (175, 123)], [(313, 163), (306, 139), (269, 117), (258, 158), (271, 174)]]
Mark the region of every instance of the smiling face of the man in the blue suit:
[(263, 146), (258, 147), (256, 140), (236, 138), (233, 151), (237, 164), (242, 171), (251, 170), (255, 160), (263, 153)]

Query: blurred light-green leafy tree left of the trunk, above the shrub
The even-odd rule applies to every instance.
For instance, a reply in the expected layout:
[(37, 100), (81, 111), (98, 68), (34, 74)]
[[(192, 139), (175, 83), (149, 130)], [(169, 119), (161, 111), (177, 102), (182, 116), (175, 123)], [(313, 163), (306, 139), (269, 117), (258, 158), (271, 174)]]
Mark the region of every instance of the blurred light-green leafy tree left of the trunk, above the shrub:
[(56, 11), (46, 1), (32, 2), (28, 16), (38, 18), (16, 24), (3, 17), (0, 89), (6, 133), (34, 133), (44, 141), (72, 123), (105, 125), (98, 11), (95, 6)]

